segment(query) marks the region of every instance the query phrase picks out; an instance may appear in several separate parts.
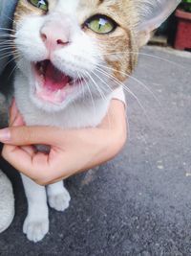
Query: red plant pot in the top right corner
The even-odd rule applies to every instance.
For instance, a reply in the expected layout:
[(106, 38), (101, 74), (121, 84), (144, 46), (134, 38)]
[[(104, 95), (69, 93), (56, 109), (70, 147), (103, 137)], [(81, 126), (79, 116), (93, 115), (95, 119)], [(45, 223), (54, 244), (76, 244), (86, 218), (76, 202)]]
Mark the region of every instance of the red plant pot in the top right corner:
[(182, 0), (175, 15), (178, 19), (175, 48), (191, 50), (191, 0)]

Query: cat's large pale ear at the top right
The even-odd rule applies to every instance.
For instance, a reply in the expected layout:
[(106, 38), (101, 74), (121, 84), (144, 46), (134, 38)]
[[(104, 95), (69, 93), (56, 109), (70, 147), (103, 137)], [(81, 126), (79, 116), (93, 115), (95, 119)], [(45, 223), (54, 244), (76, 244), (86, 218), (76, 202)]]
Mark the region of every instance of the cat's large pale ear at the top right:
[(139, 46), (148, 42), (152, 32), (176, 9), (180, 0), (138, 0)]

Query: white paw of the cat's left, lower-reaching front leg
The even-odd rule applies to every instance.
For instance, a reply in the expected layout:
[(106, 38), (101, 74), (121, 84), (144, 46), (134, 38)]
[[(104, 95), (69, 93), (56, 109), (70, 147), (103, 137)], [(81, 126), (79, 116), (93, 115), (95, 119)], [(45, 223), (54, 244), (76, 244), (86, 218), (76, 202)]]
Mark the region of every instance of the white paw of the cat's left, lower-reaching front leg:
[(49, 220), (45, 218), (41, 221), (34, 221), (27, 217), (23, 224), (23, 232), (30, 241), (37, 243), (49, 232)]

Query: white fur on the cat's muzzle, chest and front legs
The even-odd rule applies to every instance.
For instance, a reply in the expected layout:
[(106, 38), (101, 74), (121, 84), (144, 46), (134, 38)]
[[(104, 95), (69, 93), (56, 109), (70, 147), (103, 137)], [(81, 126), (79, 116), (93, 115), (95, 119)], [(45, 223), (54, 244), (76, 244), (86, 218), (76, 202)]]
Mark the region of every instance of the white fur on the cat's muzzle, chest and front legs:
[[(106, 114), (112, 96), (112, 83), (105, 78), (100, 81), (94, 74), (96, 66), (104, 62), (100, 58), (101, 53), (95, 39), (83, 33), (77, 24), (77, 4), (78, 1), (60, 0), (53, 12), (41, 17), (25, 16), (17, 26), (15, 43), (21, 58), (17, 61), (19, 70), (14, 81), (15, 99), (28, 125), (96, 127)], [(53, 52), (53, 64), (68, 75), (77, 77), (80, 74), (89, 79), (88, 84), (76, 88), (73, 95), (61, 105), (44, 103), (35, 97), (31, 68), (32, 61), (40, 61), (49, 56), (39, 32), (42, 26), (55, 19), (67, 24), (65, 28), (70, 30), (72, 43)], [(22, 175), (22, 179), (29, 204), (23, 231), (29, 240), (38, 242), (49, 230), (46, 191), (28, 177)], [(63, 187), (63, 182), (48, 186), (48, 199), (50, 206), (56, 210), (63, 211), (69, 206), (70, 195)]]

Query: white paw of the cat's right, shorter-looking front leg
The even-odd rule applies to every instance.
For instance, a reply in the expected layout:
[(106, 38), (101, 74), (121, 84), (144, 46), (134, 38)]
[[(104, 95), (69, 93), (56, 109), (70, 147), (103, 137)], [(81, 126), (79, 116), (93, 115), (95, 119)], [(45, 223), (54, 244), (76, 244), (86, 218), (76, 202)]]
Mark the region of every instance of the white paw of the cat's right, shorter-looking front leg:
[(54, 195), (50, 194), (48, 199), (49, 204), (53, 209), (59, 212), (63, 212), (69, 207), (71, 197), (68, 191), (64, 188), (60, 193)]

